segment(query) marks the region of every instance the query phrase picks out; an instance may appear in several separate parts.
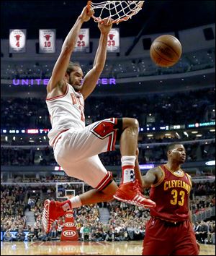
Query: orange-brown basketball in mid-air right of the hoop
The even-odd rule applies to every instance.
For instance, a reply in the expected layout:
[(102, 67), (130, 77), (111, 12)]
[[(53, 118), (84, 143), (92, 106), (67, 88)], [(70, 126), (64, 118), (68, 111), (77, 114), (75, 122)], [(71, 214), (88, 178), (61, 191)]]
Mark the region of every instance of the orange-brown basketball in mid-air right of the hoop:
[(150, 46), (150, 58), (160, 67), (174, 66), (181, 53), (181, 43), (173, 35), (161, 35)]

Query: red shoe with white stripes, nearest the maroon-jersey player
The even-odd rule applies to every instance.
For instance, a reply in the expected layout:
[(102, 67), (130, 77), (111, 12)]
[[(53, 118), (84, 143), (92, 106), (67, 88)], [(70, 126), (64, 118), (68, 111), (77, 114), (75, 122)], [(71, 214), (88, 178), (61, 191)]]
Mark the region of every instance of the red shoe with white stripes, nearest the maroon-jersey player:
[(121, 184), (113, 197), (122, 202), (128, 202), (131, 205), (137, 205), (143, 208), (156, 207), (156, 202), (142, 195), (137, 179), (134, 182)]

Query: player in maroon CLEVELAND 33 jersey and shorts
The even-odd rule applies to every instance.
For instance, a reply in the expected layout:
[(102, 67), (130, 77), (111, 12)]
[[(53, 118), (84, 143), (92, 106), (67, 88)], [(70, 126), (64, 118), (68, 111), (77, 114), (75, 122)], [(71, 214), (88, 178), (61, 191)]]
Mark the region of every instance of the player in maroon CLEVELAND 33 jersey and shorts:
[[(141, 187), (150, 188), (150, 200), (156, 202), (150, 208), (143, 255), (199, 255), (189, 210), (192, 179), (181, 170), (186, 160), (184, 145), (168, 145), (167, 157), (165, 165), (151, 168), (145, 176), (135, 172)], [(135, 169), (139, 169), (138, 157)]]

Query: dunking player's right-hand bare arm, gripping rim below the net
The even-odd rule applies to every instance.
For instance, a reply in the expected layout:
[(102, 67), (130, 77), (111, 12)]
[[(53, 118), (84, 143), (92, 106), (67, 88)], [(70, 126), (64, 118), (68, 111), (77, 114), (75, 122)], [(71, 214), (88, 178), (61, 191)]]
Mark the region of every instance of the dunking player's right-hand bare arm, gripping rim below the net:
[(109, 31), (112, 28), (112, 19), (106, 18), (99, 22), (99, 30), (101, 31), (99, 46), (94, 58), (93, 68), (84, 77), (81, 93), (86, 99), (96, 87), (96, 82), (99, 80), (100, 74), (104, 69), (104, 64), (107, 59), (107, 40)]

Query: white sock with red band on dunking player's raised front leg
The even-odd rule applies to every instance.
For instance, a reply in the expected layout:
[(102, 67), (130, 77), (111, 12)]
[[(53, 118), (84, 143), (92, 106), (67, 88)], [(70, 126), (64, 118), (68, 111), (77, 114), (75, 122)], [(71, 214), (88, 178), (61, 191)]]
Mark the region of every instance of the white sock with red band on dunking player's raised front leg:
[(133, 182), (135, 180), (135, 155), (124, 155), (122, 161), (122, 184)]

